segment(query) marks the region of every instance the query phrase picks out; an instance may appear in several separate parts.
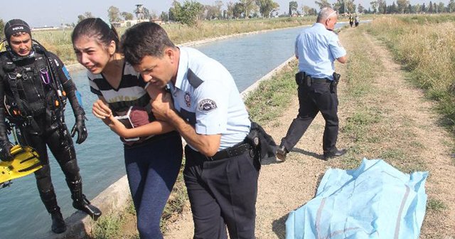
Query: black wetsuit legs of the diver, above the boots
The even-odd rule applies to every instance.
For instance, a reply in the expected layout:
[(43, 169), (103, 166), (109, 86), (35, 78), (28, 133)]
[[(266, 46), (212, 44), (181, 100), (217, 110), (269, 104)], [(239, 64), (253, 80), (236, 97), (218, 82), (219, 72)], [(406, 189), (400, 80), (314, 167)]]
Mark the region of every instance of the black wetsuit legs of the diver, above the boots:
[(45, 119), (41, 118), (37, 120), (37, 123), (40, 130), (27, 127), (21, 130), (21, 134), (26, 139), (25, 143), (36, 149), (40, 156), (39, 159), (41, 164), (43, 164), (43, 168), (35, 172), (36, 184), (45, 208), (49, 213), (54, 213), (60, 210), (60, 208), (58, 207), (53, 184), (50, 179), (47, 147), (49, 147), (50, 152), (57, 159), (67, 182), (80, 181), (79, 167), (77, 166), (73, 139), (71, 139), (70, 132), (68, 132), (66, 126), (60, 126), (56, 129), (55, 125), (48, 127), (45, 124)]

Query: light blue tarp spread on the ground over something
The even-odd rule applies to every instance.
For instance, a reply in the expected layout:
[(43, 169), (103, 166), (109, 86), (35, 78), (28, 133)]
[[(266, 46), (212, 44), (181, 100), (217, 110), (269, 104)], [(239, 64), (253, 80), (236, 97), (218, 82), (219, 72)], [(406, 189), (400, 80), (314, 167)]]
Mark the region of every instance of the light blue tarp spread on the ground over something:
[(419, 238), (428, 172), (403, 174), (381, 159), (328, 169), (316, 197), (286, 221), (286, 239)]

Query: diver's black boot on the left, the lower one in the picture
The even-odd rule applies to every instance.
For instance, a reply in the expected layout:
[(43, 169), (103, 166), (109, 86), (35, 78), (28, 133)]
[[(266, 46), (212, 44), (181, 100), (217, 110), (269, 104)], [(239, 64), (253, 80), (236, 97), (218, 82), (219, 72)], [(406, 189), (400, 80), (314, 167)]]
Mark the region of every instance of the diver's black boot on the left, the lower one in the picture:
[(60, 207), (57, 205), (57, 198), (55, 196), (54, 188), (51, 186), (49, 191), (40, 191), (40, 196), (45, 208), (48, 210), (48, 213), (50, 213), (50, 218), (52, 218), (52, 226), (50, 229), (54, 233), (65, 232), (66, 224), (62, 213), (60, 213)]

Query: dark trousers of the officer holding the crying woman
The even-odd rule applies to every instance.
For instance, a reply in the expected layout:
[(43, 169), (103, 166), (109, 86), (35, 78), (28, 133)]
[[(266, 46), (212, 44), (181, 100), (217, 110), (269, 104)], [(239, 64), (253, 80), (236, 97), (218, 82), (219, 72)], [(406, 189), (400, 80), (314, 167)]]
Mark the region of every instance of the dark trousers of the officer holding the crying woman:
[(208, 161), (185, 147), (183, 171), (195, 225), (194, 238), (254, 239), (258, 169), (246, 151), (239, 156)]

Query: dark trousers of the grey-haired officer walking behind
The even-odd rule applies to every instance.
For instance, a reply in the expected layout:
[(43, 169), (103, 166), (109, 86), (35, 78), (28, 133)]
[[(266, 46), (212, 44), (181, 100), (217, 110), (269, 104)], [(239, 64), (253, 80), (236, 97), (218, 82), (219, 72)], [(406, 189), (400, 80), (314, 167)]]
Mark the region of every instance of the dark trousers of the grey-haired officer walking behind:
[(330, 83), (312, 83), (311, 86), (301, 85), (299, 92), (299, 115), (292, 121), (286, 137), (281, 145), (290, 152), (299, 142), (314, 117), (321, 112), (326, 120), (323, 134), (323, 153), (329, 154), (336, 150), (338, 137), (338, 97), (336, 87), (332, 93)]

